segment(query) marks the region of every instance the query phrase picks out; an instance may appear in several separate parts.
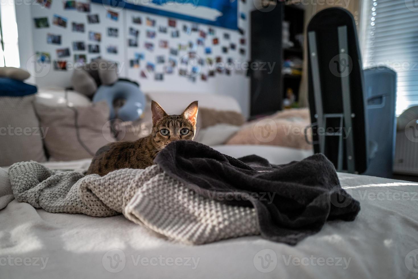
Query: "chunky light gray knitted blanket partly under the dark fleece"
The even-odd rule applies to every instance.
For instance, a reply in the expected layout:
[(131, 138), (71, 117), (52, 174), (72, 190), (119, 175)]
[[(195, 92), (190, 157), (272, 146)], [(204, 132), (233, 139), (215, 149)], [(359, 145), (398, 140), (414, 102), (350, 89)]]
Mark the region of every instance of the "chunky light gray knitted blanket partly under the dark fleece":
[(125, 218), (188, 244), (260, 234), (255, 209), (199, 196), (158, 165), (120, 169), (100, 177), (53, 171), (37, 162), (9, 169), (16, 200), (48, 212)]

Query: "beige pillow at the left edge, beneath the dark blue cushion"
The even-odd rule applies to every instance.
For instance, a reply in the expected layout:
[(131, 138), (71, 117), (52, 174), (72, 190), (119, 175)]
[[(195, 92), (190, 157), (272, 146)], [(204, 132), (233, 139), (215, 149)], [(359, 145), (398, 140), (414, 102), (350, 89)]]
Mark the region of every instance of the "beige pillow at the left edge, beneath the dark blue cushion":
[(34, 99), (34, 95), (0, 97), (0, 166), (46, 161)]

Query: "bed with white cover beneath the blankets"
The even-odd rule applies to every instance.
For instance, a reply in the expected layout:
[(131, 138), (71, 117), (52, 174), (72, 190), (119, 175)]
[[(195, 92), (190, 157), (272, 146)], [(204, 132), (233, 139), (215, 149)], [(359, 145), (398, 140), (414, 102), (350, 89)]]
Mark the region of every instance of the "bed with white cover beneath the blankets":
[[(89, 160), (44, 164), (80, 169)], [(296, 246), (260, 236), (190, 246), (123, 215), (49, 213), (13, 200), (0, 211), (0, 277), (418, 278), (418, 183), (339, 179), (359, 215), (328, 222)]]

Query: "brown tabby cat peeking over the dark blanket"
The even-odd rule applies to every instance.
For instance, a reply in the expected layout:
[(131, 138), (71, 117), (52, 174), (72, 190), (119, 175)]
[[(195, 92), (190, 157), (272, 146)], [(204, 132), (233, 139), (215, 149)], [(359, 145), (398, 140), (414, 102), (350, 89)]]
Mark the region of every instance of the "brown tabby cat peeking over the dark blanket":
[(191, 141), (196, 133), (197, 101), (192, 102), (181, 115), (168, 115), (161, 106), (151, 101), (153, 128), (149, 136), (137, 141), (119, 141), (100, 148), (87, 174), (103, 176), (116, 169), (145, 169), (153, 164), (155, 156), (168, 143)]

